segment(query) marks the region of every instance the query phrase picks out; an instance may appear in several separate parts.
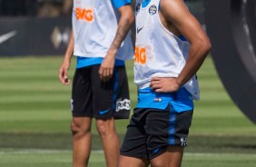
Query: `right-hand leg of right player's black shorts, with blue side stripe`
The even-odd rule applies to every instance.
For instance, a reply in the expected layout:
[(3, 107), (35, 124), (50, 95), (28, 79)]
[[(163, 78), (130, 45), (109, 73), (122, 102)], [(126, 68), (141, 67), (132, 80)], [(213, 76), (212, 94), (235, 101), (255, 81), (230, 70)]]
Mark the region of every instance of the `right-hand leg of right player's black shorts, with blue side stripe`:
[(150, 109), (145, 131), (147, 151), (153, 158), (166, 152), (169, 146), (186, 146), (186, 138), (192, 121), (192, 111), (176, 113), (170, 105), (164, 110)]

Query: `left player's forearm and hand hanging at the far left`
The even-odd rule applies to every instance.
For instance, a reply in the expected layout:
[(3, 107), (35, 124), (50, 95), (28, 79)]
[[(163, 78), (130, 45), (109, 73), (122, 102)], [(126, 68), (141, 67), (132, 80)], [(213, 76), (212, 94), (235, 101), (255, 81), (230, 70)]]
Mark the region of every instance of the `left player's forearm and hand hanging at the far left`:
[(70, 80), (68, 79), (68, 70), (71, 64), (71, 58), (73, 56), (73, 52), (74, 52), (74, 34), (73, 34), (73, 30), (71, 30), (69, 44), (64, 54), (64, 60), (59, 68), (59, 80), (64, 85), (68, 85), (70, 83)]

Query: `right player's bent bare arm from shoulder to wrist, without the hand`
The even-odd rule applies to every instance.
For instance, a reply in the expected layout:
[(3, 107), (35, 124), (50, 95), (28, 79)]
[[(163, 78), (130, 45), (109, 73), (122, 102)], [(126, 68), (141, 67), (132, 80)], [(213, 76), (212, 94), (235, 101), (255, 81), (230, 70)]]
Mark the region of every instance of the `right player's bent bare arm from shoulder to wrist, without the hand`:
[(177, 78), (182, 85), (192, 78), (211, 49), (211, 43), (200, 23), (189, 12), (182, 0), (161, 0), (162, 15), (170, 21), (191, 44), (187, 63)]

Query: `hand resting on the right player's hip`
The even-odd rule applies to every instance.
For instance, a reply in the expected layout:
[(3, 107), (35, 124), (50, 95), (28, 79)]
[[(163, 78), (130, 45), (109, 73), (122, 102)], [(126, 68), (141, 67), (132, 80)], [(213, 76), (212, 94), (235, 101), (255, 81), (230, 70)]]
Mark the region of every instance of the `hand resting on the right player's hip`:
[(180, 89), (176, 78), (171, 77), (153, 77), (151, 79), (150, 87), (156, 93), (172, 93)]

